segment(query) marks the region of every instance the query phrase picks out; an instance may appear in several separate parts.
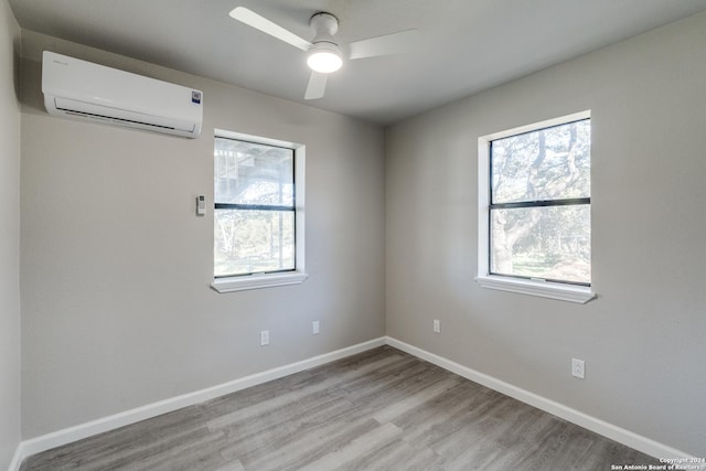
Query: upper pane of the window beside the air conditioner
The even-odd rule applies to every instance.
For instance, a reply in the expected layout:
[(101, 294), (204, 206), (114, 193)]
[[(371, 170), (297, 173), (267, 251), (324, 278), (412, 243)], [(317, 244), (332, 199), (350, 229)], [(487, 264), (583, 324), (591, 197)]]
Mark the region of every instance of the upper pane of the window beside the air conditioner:
[(295, 204), (295, 151), (233, 139), (215, 139), (215, 202)]

